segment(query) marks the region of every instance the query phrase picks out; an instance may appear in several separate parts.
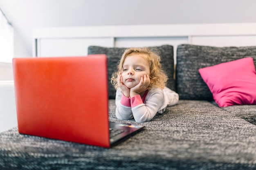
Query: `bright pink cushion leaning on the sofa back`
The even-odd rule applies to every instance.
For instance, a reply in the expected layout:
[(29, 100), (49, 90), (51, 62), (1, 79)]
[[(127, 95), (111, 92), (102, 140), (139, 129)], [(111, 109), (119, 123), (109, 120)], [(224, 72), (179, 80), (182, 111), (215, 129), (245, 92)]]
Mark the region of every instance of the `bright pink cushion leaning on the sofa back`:
[(251, 57), (200, 68), (199, 73), (220, 107), (256, 104), (256, 71)]

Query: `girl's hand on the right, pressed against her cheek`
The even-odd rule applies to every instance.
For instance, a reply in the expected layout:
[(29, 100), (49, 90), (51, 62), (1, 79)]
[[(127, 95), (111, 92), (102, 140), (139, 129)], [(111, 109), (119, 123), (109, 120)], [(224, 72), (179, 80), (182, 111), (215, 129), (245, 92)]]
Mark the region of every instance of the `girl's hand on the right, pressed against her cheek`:
[(149, 75), (144, 75), (143, 77), (140, 78), (139, 84), (137, 84), (136, 86), (130, 89), (130, 97), (133, 97), (135, 95), (140, 94), (141, 92), (148, 90), (149, 84), (150, 84)]

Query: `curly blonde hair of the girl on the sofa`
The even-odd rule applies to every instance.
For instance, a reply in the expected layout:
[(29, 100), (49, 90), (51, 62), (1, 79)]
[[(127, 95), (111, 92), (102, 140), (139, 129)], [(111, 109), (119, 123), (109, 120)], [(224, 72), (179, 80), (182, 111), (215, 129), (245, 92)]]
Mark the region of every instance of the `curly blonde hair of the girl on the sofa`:
[(162, 68), (162, 64), (160, 64), (161, 57), (159, 55), (159, 51), (156, 48), (148, 49), (147, 47), (142, 47), (142, 48), (132, 47), (124, 51), (121, 57), (121, 60), (117, 65), (117, 71), (115, 71), (112, 74), (112, 78), (111, 78), (111, 84), (114, 85), (115, 89), (118, 88), (117, 76), (119, 72), (123, 70), (124, 60), (126, 60), (126, 57), (134, 54), (142, 54), (142, 56), (145, 57), (145, 59), (148, 61), (148, 65), (150, 68), (149, 89), (155, 88), (155, 87), (163, 89), (166, 86), (168, 77)]

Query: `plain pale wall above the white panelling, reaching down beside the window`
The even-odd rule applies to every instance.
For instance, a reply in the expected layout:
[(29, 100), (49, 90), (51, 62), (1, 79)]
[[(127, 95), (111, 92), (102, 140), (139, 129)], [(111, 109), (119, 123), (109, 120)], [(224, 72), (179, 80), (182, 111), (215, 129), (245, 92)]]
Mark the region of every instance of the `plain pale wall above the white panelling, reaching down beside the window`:
[(256, 22), (255, 0), (0, 0), (15, 29), (15, 57), (32, 56), (47, 26)]

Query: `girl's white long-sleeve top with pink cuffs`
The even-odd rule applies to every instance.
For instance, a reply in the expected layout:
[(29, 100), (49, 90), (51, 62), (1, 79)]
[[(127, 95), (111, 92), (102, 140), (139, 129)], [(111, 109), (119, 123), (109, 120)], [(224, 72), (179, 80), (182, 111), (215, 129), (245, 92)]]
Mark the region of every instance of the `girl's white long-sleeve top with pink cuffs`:
[(116, 117), (122, 120), (134, 118), (138, 123), (150, 121), (155, 115), (164, 113), (167, 106), (173, 106), (178, 101), (179, 95), (167, 87), (152, 88), (146, 91), (142, 99), (140, 95), (125, 97), (119, 88), (115, 100)]

